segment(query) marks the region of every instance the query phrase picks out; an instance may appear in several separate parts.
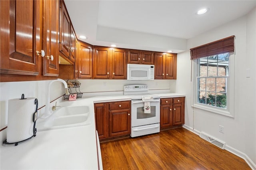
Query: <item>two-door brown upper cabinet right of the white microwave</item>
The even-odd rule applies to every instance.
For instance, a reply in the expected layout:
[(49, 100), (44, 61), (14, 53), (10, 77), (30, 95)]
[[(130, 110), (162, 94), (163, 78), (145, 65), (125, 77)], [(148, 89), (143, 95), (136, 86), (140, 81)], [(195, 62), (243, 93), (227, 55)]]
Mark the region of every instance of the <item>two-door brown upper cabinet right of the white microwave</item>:
[(155, 79), (176, 79), (177, 54), (154, 53)]

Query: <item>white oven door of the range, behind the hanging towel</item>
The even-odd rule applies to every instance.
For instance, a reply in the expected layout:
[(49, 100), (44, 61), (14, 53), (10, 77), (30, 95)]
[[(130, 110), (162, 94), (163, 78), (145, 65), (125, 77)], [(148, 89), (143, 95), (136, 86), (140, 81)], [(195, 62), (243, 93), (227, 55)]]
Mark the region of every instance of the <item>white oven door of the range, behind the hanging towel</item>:
[(160, 123), (160, 99), (150, 101), (150, 113), (144, 113), (144, 102), (132, 100), (132, 127)]

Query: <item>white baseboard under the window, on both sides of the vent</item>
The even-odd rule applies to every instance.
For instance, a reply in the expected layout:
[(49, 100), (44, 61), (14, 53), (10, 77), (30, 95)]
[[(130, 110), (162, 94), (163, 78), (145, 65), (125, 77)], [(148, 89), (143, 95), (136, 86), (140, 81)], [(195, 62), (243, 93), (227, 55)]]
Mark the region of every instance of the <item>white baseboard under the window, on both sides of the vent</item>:
[[(182, 127), (186, 128), (187, 130), (197, 134), (198, 136), (200, 135), (200, 131), (193, 129), (192, 127), (189, 127), (187, 125), (182, 125)], [(225, 144), (224, 147), (225, 150), (227, 150), (228, 152), (242, 158), (245, 160), (245, 162), (250, 166), (250, 168), (252, 168), (252, 170), (256, 170), (256, 165), (254, 164), (254, 162), (252, 162), (252, 160), (243, 152), (236, 150), (235, 148), (232, 148), (231, 146), (228, 146), (227, 144)]]

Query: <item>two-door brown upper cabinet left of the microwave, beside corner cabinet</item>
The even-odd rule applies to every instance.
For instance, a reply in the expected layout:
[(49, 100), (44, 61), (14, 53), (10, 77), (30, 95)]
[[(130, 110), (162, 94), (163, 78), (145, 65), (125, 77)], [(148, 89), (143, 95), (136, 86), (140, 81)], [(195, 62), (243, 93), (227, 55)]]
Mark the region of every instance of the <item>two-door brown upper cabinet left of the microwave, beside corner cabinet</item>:
[(94, 79), (126, 79), (126, 49), (94, 47), (93, 78)]

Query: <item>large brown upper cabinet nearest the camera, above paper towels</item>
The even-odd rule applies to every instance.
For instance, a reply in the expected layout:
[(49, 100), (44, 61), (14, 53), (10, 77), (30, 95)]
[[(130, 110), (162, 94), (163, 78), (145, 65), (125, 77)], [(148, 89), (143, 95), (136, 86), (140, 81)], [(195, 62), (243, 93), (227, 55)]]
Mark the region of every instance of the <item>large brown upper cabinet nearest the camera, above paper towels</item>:
[(0, 6), (0, 73), (58, 76), (59, 1), (10, 0)]

